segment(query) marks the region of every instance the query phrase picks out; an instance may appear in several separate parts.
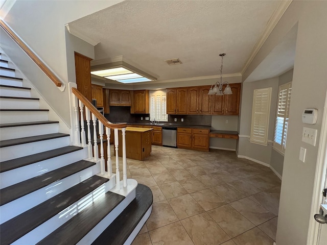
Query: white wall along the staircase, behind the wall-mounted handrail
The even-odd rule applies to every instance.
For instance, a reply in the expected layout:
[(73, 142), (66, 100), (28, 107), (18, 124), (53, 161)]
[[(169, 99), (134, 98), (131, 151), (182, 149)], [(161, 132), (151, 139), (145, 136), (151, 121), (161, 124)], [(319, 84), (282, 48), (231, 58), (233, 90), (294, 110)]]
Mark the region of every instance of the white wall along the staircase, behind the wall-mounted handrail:
[[(72, 65), (67, 64), (67, 60), (68, 62), (71, 60), (66, 56), (65, 24), (120, 2), (122, 1), (16, 1), (8, 14), (1, 17), (62, 82), (67, 84), (75, 82), (75, 75), (72, 75), (72, 72), (75, 72), (75, 66), (73, 68)], [(2, 45), (3, 40), (2, 35)], [(6, 40), (6, 43), (9, 41)], [(16, 51), (15, 48), (5, 46), (4, 51), (10, 58), (13, 57), (12, 60), (20, 67), (20, 57), (24, 55), (12, 53)], [(74, 50), (74, 47), (70, 47), (69, 50)], [(33, 64), (26, 63), (26, 66), (33, 67)], [(53, 84), (48, 83), (47, 78), (43, 79), (42, 75), (38, 76), (39, 81), (35, 81), (36, 75), (29, 71), (32, 69), (26, 67), (25, 70), (24, 74), (42, 94), (45, 101), (54, 108), (67, 125), (70, 125), (69, 107), (62, 106), (68, 105), (67, 89), (60, 92)], [(47, 85), (44, 86), (42, 82)]]

